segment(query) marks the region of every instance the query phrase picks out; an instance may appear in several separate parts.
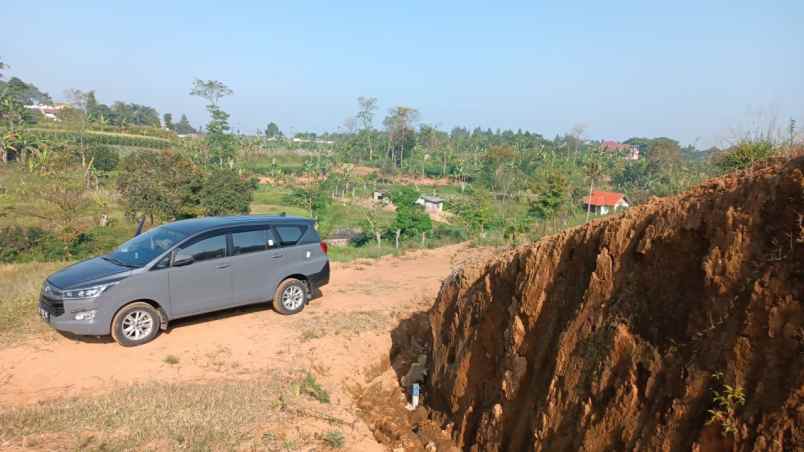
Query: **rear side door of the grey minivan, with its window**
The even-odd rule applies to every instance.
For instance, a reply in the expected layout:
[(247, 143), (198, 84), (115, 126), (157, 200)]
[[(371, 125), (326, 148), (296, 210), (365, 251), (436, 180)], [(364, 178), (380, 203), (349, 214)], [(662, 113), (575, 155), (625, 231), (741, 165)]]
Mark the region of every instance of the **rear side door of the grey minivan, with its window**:
[(284, 256), (270, 226), (232, 231), (232, 287), (238, 305), (268, 301), (279, 284)]

